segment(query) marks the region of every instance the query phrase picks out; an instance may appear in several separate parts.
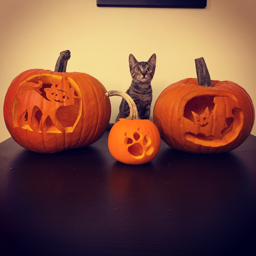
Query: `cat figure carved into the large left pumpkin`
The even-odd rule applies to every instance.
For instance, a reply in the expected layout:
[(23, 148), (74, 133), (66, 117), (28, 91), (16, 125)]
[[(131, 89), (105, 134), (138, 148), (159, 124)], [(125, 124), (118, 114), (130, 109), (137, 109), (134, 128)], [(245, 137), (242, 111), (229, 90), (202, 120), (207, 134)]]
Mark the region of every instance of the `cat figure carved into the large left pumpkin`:
[[(50, 88), (44, 88), (46, 98), (42, 96), (40, 89), (43, 86), (42, 81), (38, 83), (25, 82), (19, 90), (17, 97), (20, 99), (20, 111), (17, 115), (18, 126), (23, 126), (26, 122), (33, 131), (46, 130), (45, 121), (51, 118), (52, 124), (61, 132), (65, 131), (65, 128), (61, 125), (56, 117), (56, 110), (60, 106), (70, 106), (74, 104), (74, 99), (79, 96), (75, 96), (75, 90), (70, 88), (65, 78), (62, 78), (60, 83), (56, 86), (55, 83)], [(37, 102), (37, 105), (31, 103), (28, 105), (25, 98), (33, 98), (33, 102)], [(36, 113), (40, 113), (39, 115)]]

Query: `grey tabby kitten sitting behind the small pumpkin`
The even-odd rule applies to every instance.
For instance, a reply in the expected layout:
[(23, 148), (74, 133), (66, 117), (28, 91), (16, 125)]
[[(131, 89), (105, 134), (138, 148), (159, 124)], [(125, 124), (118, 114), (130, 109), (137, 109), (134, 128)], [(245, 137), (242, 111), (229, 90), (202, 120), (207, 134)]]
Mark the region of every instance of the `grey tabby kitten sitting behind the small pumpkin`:
[[(126, 93), (134, 100), (138, 109), (139, 118), (149, 119), (152, 102), (151, 80), (155, 74), (156, 54), (152, 54), (147, 62), (138, 62), (133, 54), (130, 54), (129, 67), (132, 75), (132, 83)], [(129, 115), (129, 105), (125, 99), (122, 99), (116, 122), (119, 118), (126, 118)]]

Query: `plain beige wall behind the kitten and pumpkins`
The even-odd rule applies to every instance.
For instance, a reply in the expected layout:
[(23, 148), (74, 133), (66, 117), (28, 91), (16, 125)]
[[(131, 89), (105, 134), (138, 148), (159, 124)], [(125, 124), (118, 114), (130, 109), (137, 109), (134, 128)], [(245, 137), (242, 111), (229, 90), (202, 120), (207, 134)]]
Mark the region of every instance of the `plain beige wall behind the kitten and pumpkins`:
[[(53, 70), (67, 49), (67, 71), (93, 75), (107, 90), (123, 91), (131, 83), (129, 53), (139, 61), (156, 53), (152, 109), (166, 86), (196, 77), (194, 59), (202, 56), (212, 79), (240, 84), (256, 106), (255, 10), (255, 0), (208, 0), (202, 10), (99, 8), (96, 0), (0, 0), (0, 107), (16, 75), (32, 68)], [(112, 122), (120, 101), (111, 98)], [(2, 110), (0, 129), (0, 141), (10, 137)]]

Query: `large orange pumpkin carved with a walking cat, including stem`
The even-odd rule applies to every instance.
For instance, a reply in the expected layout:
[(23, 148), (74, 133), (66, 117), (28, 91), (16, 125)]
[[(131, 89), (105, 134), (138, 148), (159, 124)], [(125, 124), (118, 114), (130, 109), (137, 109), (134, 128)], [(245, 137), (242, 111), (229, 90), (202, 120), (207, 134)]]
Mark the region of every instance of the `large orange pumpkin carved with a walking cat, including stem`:
[(70, 52), (60, 53), (55, 71), (31, 69), (7, 91), (4, 119), (11, 137), (40, 153), (93, 144), (111, 115), (105, 87), (91, 75), (66, 72)]

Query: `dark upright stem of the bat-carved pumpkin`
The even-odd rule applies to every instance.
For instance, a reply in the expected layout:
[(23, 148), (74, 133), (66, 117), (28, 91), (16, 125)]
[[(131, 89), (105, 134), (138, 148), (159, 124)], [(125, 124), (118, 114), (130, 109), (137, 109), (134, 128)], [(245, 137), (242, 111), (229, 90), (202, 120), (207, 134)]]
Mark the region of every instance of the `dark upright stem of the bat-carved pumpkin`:
[(206, 63), (204, 61), (204, 58), (201, 57), (201, 58), (195, 59), (195, 63), (196, 63), (198, 84), (201, 86), (213, 87), (213, 85), (211, 84), (211, 77), (207, 69)]

